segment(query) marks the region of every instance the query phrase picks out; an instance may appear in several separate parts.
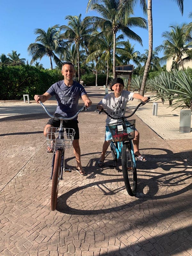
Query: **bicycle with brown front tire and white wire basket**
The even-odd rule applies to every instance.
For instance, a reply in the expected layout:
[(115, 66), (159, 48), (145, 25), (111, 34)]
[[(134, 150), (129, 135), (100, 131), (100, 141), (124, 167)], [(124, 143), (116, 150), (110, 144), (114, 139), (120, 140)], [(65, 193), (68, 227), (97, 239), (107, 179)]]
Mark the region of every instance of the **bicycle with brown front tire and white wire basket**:
[[(63, 120), (71, 120), (75, 118), (81, 111), (86, 111), (88, 108), (83, 106), (79, 111), (72, 117), (53, 116), (46, 109), (44, 104), (39, 101), (40, 105), (44, 108), (48, 116), (55, 120), (60, 120), (60, 127), (50, 127), (47, 132), (47, 146), (53, 149), (52, 157), (52, 172), (50, 179), (52, 180), (51, 189), (51, 210), (55, 211), (57, 207), (57, 195), (59, 189), (59, 181), (63, 178), (63, 171), (71, 172), (71, 168), (65, 168), (65, 149), (71, 148), (75, 130), (72, 128), (63, 127)], [(90, 108), (90, 107), (89, 107)], [(59, 131), (57, 131), (59, 129)]]

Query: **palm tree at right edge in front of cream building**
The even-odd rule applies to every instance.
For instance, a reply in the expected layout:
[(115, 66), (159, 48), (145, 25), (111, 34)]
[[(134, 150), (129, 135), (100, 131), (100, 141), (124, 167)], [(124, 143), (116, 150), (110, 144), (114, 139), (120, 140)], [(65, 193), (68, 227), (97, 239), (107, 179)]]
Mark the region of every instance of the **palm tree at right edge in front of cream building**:
[(173, 59), (172, 68), (181, 66), (184, 70), (184, 62), (192, 59), (192, 38), (188, 33), (188, 25), (184, 23), (170, 28), (171, 31), (163, 32), (165, 40), (156, 47), (156, 51), (163, 51), (163, 61)]

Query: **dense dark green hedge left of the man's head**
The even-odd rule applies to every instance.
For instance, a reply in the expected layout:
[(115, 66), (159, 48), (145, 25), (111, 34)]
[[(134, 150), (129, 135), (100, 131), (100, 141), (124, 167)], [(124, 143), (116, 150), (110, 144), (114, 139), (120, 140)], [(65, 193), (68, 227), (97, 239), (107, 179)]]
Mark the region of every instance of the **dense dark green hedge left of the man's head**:
[(21, 100), (29, 94), (43, 94), (55, 82), (62, 80), (60, 71), (38, 69), (30, 65), (0, 67), (0, 100)]

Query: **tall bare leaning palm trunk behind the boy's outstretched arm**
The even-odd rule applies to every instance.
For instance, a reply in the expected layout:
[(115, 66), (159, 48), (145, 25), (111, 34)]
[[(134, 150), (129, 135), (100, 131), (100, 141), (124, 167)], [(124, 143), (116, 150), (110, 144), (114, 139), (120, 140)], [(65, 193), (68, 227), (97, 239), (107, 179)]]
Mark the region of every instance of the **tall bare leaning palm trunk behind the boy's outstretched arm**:
[(147, 76), (148, 76), (149, 67), (151, 64), (152, 52), (153, 52), (152, 0), (148, 0), (147, 14), (148, 14), (148, 30), (149, 30), (149, 32), (148, 32), (148, 34), (149, 34), (149, 51), (148, 51), (148, 58), (147, 58), (147, 62), (145, 65), (145, 70), (144, 70), (142, 84), (141, 84), (141, 90), (140, 90), (140, 95), (142, 95), (142, 96), (144, 96), (145, 86), (146, 86), (146, 82), (147, 82)]

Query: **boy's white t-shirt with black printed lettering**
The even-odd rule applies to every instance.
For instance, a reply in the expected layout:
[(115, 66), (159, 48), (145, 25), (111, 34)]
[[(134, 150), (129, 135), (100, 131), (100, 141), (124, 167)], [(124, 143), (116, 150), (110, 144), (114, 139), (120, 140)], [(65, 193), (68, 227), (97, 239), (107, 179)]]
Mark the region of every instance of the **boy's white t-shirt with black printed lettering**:
[[(133, 100), (134, 92), (128, 92), (123, 90), (120, 97), (115, 98), (114, 92), (111, 92), (99, 102), (100, 105), (106, 109), (106, 112), (114, 117), (124, 116), (126, 105), (129, 100)], [(121, 122), (121, 120), (114, 120), (107, 116), (106, 125)]]

